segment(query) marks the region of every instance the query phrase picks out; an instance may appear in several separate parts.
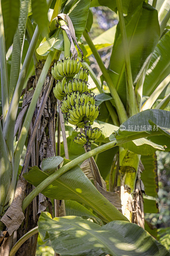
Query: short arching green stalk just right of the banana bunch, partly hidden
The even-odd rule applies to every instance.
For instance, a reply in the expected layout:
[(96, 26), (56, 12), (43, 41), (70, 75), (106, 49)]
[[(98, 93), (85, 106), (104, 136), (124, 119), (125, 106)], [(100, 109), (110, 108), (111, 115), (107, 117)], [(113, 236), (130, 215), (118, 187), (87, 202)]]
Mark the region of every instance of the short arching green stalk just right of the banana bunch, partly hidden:
[[(92, 69), (90, 68), (90, 66), (88, 65), (88, 63), (87, 63), (87, 62), (81, 62), (81, 65), (82, 65), (82, 67), (89, 69), (89, 75), (91, 76), (91, 78), (92, 78), (93, 81), (95, 82), (97, 89), (99, 90), (100, 93), (103, 93), (104, 90), (103, 90), (103, 88), (102, 88), (102, 85), (101, 85), (101, 83), (99, 82), (99, 80), (97, 79), (97, 77), (96, 77), (95, 73), (93, 72), (93, 70), (92, 70)], [(106, 104), (106, 108), (107, 108), (108, 111), (109, 111), (109, 114), (110, 114), (110, 116), (111, 116), (111, 119), (112, 119), (112, 121), (113, 121), (113, 124), (119, 126), (120, 123), (119, 123), (119, 120), (118, 120), (118, 117), (117, 117), (117, 113), (115, 112), (115, 110), (114, 110), (114, 108), (113, 108), (111, 102), (110, 102), (109, 100), (107, 100), (107, 101), (105, 101), (105, 104)]]

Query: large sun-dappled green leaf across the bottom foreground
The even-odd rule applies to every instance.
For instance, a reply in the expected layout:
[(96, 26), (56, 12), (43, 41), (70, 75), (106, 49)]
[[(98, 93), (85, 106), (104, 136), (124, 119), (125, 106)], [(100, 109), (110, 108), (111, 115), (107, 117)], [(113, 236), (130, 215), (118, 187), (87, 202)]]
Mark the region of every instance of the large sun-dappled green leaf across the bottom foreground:
[[(49, 213), (47, 213), (49, 215)], [(51, 219), (42, 212), (39, 234), (50, 239), (61, 256), (168, 256), (170, 253), (143, 228), (126, 221), (111, 221), (100, 227), (81, 217), (65, 216)]]

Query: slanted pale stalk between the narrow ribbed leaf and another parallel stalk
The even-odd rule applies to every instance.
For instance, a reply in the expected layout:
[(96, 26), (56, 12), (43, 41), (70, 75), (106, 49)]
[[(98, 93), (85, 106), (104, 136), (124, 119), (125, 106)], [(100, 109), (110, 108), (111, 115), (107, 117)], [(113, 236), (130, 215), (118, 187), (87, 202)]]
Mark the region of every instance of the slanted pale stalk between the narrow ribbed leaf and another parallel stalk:
[[(50, 7), (52, 0), (47, 1), (47, 6), (48, 8)], [(21, 72), (19, 74), (18, 82), (10, 103), (10, 107), (8, 109), (8, 112), (5, 116), (4, 119), (4, 129), (3, 129), (3, 134), (5, 141), (7, 143), (7, 146), (9, 148), (10, 155), (13, 153), (13, 137), (14, 137), (14, 127), (15, 127), (15, 120), (17, 116), (17, 111), (18, 111), (18, 105), (19, 105), (19, 100), (21, 97), (21, 92), (23, 89), (23, 85), (26, 79), (26, 75), (32, 60), (33, 53), (36, 48), (36, 44), (39, 39), (39, 28), (38, 26), (35, 29), (34, 35), (32, 36), (31, 43), (29, 45), (28, 51), (25, 56), (25, 60), (21, 69)]]

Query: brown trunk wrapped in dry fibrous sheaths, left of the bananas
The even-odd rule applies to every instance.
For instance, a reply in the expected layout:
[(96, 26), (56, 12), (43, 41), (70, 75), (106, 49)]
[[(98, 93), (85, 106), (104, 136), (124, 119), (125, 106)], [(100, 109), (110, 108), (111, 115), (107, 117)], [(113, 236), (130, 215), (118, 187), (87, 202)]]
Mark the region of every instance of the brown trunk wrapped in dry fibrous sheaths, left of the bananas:
[[(32, 87), (36, 86), (39, 76), (41, 74), (41, 70), (44, 65), (44, 60), (40, 61), (38, 67), (36, 68), (35, 76), (32, 79)], [(39, 100), (37, 102), (37, 107), (34, 111), (34, 115), (32, 117), (32, 123), (30, 125), (29, 133), (28, 133), (28, 142), (32, 136), (33, 126), (38, 114), (38, 110), (43, 98), (44, 93), (46, 92), (46, 88), (49, 87), (51, 78), (51, 72), (49, 71), (46, 80), (44, 82), (42, 91), (39, 95)], [(54, 86), (54, 83), (53, 83)], [(43, 158), (55, 156), (56, 155), (56, 143), (55, 143), (55, 119), (56, 119), (56, 109), (57, 109), (57, 101), (53, 95), (53, 87), (52, 90), (46, 100), (46, 104), (43, 110), (43, 114), (40, 118), (39, 127), (36, 132), (36, 138), (30, 147), (32, 148), (31, 157), (29, 160), (29, 166), (37, 165), (41, 166), (41, 162)], [(26, 158), (25, 158), (26, 159)], [(25, 196), (27, 196), (34, 187), (28, 183)], [(45, 211), (46, 207), (48, 207), (49, 212), (53, 216), (52, 204), (49, 198), (46, 198), (42, 194), (39, 194), (32, 203), (25, 210), (25, 220), (22, 225), (17, 230), (17, 240), (23, 236), (30, 229), (37, 226), (37, 221), (39, 218), (39, 214), (41, 211)], [(30, 237), (25, 243), (19, 248), (16, 256), (35, 256), (36, 247), (37, 247), (37, 238), (38, 234)]]

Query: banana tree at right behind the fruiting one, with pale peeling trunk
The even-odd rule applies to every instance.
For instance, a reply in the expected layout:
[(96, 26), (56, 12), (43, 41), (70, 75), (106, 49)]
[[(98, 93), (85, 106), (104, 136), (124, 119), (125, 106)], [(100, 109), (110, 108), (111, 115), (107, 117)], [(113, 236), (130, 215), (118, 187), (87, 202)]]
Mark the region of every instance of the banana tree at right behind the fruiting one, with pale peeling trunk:
[[(102, 4), (108, 6), (111, 10), (115, 10), (116, 8), (115, 2), (111, 3), (111, 1), (108, 1), (106, 4), (99, 1), (99, 3), (97, 3), (97, 5)], [(110, 28), (103, 33), (103, 37), (100, 35), (93, 41), (88, 35), (89, 26), (87, 26), (83, 32), (84, 38), (88, 43), (88, 45), (85, 45), (87, 56), (91, 53), (94, 54), (103, 73), (101, 79), (102, 83), (103, 80), (105, 80), (109, 86), (113, 101), (112, 105), (109, 105), (108, 108), (108, 104), (110, 103), (109, 101), (105, 101), (108, 100), (108, 98), (105, 97), (106, 95), (103, 93), (102, 83), (94, 79), (96, 86), (100, 93), (102, 93), (98, 96), (99, 99), (105, 101), (108, 110), (110, 110), (110, 108), (114, 110), (109, 112), (113, 124), (115, 125), (117, 125), (117, 120), (119, 123), (122, 123), (128, 116), (132, 116), (145, 109), (166, 109), (166, 105), (169, 102), (168, 90), (165, 94), (169, 85), (169, 60), (166, 59), (166, 50), (163, 50), (163, 45), (169, 47), (169, 44), (167, 44), (167, 42), (169, 42), (169, 31), (166, 29), (166, 23), (169, 20), (169, 12), (166, 13), (165, 17), (162, 16), (163, 20), (158, 20), (158, 13), (154, 4), (155, 3), (151, 6), (143, 3), (143, 1), (130, 1), (128, 5), (125, 5), (117, 1), (116, 6), (119, 15), (119, 23), (116, 29), (114, 27)], [(92, 1), (91, 6), (96, 6), (96, 2)], [(126, 13), (127, 16), (123, 17), (123, 13)], [(88, 24), (92, 24), (90, 17)], [(114, 42), (112, 39), (113, 43), (110, 41), (110, 33), (115, 35)], [(97, 49), (102, 49), (103, 46), (111, 44), (113, 44), (113, 48), (110, 57), (110, 65), (108, 69), (106, 69)], [(94, 76), (94, 74), (92, 74), (92, 76)], [(152, 79), (152, 81), (150, 79)], [(143, 99), (142, 96), (144, 96)], [(163, 98), (160, 105), (157, 105), (157, 102), (159, 102), (157, 101), (158, 98)], [(112, 99), (110, 98), (110, 100)], [(165, 105), (162, 105), (164, 102)], [(107, 109), (105, 109), (105, 115), (107, 116), (106, 113), (108, 113)], [(129, 126), (129, 130), (142, 130), (145, 128), (147, 129), (147, 127), (142, 125), (139, 127), (138, 124), (136, 126)], [(138, 150), (134, 145), (132, 146), (132, 144), (131, 146), (124, 144), (124, 147), (119, 147), (119, 161), (117, 162), (119, 171), (118, 176), (115, 175), (114, 189), (120, 190), (122, 203), (124, 204), (124, 214), (129, 220), (133, 217), (133, 221), (135, 221), (135, 218), (135, 223), (144, 227), (143, 205), (141, 205), (142, 212), (140, 210), (138, 212), (140, 215), (140, 223), (139, 220), (137, 220), (137, 216), (132, 216), (132, 211), (136, 211), (137, 209), (133, 209), (132, 207), (133, 198), (131, 193), (136, 189), (138, 193), (140, 193), (140, 190), (142, 191), (141, 185), (138, 189), (136, 183), (136, 181), (139, 182), (140, 179), (140, 175), (138, 177), (138, 169), (141, 168), (139, 163), (141, 155), (151, 154), (151, 151), (147, 148), (149, 145), (151, 146), (151, 141), (145, 141), (146, 144), (143, 141), (145, 146), (140, 140), (136, 142), (137, 144), (139, 142), (141, 150), (139, 147)], [(136, 142), (134, 142), (134, 144)], [(168, 142), (165, 144), (168, 145)], [(154, 147), (153, 144), (152, 146)], [(142, 148), (145, 148), (145, 152)], [(135, 154), (137, 152), (138, 154)], [(114, 166), (115, 160), (113, 160), (113, 168), (110, 170), (110, 177), (112, 176), (111, 173), (114, 170)], [(112, 180), (113, 178), (111, 177), (110, 182), (112, 182)], [(110, 184), (110, 188), (112, 188), (113, 191), (113, 184)], [(141, 204), (141, 200), (139, 201), (138, 203)]]

